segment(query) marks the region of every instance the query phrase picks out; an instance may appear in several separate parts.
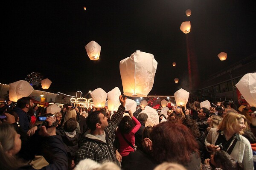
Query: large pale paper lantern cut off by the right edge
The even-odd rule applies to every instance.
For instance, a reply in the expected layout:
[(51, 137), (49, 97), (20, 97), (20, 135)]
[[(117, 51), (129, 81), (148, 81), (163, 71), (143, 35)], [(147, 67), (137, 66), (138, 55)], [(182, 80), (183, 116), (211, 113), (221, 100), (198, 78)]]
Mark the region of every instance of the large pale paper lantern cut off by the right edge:
[(256, 107), (256, 73), (245, 74), (236, 87), (250, 106)]

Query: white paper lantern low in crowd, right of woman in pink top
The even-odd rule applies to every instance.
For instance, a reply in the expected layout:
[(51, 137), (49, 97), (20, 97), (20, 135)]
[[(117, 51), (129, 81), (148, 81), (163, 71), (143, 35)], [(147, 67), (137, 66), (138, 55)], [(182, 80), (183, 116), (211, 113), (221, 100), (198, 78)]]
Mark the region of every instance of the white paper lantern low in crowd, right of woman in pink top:
[(143, 110), (141, 113), (146, 113), (148, 115), (148, 120), (145, 126), (149, 126), (149, 125), (154, 126), (159, 124), (159, 116), (157, 111), (154, 110), (154, 108), (151, 108), (150, 106), (146, 106), (145, 110)]

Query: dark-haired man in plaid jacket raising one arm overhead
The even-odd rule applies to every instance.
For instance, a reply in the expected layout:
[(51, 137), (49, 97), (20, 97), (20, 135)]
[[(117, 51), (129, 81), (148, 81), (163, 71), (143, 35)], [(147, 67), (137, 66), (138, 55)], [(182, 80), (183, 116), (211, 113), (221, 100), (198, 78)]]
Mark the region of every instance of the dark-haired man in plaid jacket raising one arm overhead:
[(90, 130), (87, 130), (81, 136), (81, 147), (76, 152), (76, 164), (83, 159), (89, 158), (99, 163), (113, 161), (119, 165), (113, 149), (115, 137), (113, 134), (125, 113), (126, 97), (119, 96), (119, 101), (121, 105), (118, 111), (113, 114), (109, 124), (108, 118), (101, 111), (94, 111), (89, 114), (87, 126)]

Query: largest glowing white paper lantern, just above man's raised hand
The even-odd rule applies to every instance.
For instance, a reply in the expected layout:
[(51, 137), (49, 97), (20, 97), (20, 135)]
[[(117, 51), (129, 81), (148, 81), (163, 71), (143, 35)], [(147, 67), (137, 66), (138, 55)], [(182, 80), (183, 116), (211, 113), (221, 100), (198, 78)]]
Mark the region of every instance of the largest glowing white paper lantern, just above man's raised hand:
[(126, 96), (146, 97), (154, 84), (157, 61), (154, 55), (136, 51), (120, 61), (120, 74)]

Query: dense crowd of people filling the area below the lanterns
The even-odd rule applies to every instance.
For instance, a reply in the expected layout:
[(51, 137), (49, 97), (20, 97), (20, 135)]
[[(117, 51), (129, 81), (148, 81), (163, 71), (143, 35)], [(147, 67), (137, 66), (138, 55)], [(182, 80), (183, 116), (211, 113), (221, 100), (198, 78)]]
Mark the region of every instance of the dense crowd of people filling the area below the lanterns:
[[(47, 113), (30, 97), (1, 105), (0, 168), (3, 170), (253, 170), (256, 109), (159, 108), (159, 123), (146, 126), (140, 106), (124, 116), (126, 97), (108, 108), (63, 108)], [(163, 109), (164, 110), (164, 109)], [(142, 112), (143, 111), (143, 112)], [(45, 118), (45, 119), (41, 119)], [(158, 121), (158, 120), (157, 120)]]

